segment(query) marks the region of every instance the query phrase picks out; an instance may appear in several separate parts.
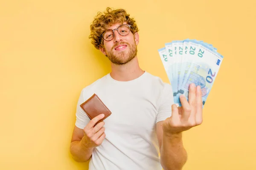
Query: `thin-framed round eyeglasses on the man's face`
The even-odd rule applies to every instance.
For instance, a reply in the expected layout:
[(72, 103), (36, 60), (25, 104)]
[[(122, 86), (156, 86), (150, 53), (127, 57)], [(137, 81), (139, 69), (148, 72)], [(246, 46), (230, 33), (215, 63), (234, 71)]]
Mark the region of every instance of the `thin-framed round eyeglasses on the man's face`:
[(115, 36), (115, 30), (117, 30), (117, 32), (122, 35), (128, 35), (130, 33), (130, 29), (131, 25), (128, 24), (122, 24), (120, 25), (117, 29), (108, 29), (105, 32), (103, 32), (100, 36), (106, 40), (106, 41), (111, 41), (113, 39), (113, 37)]

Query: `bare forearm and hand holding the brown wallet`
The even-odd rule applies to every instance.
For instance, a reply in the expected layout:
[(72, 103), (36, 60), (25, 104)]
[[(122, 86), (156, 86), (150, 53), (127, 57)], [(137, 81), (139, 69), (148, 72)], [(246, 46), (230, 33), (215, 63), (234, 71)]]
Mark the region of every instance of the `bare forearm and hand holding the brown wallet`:
[(104, 114), (96, 116), (84, 127), (84, 129), (80, 129), (76, 126), (74, 127), (70, 143), (70, 153), (75, 161), (89, 161), (93, 154), (93, 148), (102, 144), (102, 141), (106, 136), (105, 127), (103, 127), (105, 122), (102, 121), (95, 127), (94, 125), (103, 117)]

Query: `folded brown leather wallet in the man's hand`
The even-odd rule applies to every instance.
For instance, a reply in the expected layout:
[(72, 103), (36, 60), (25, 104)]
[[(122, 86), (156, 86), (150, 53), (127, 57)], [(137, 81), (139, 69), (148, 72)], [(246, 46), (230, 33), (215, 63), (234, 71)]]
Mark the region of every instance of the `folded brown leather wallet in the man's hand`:
[(80, 104), (80, 107), (84, 110), (90, 120), (102, 113), (105, 115), (104, 118), (96, 122), (95, 126), (105, 120), (105, 118), (107, 118), (109, 115), (111, 115), (111, 111), (96, 94), (93, 94), (90, 98), (87, 99), (87, 101), (84, 101), (84, 103)]

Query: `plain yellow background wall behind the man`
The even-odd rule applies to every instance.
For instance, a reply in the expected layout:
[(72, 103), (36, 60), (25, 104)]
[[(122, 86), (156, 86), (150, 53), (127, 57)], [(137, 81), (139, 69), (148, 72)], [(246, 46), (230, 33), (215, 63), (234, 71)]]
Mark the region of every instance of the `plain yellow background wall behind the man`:
[(165, 82), (164, 43), (190, 38), (218, 49), (224, 60), (204, 122), (184, 133), (183, 170), (255, 170), (254, 0), (1, 0), (0, 169), (87, 169), (69, 145), (81, 89), (110, 72), (88, 39), (107, 6), (135, 18), (140, 66)]

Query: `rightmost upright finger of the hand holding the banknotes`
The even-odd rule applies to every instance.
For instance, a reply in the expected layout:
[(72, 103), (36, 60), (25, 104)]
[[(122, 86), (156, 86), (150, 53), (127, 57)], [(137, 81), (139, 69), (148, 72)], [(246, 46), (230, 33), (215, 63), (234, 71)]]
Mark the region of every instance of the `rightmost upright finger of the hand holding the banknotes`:
[(203, 101), (202, 90), (200, 86), (196, 87), (196, 124), (201, 124), (203, 121)]

